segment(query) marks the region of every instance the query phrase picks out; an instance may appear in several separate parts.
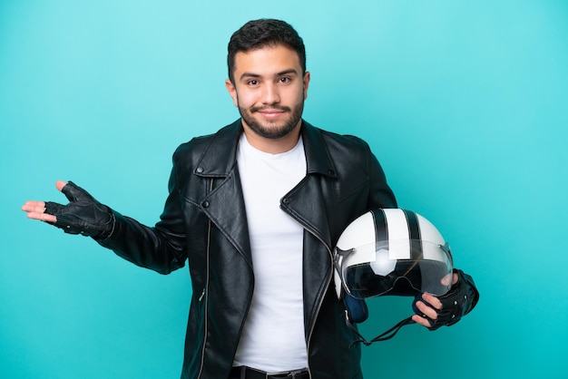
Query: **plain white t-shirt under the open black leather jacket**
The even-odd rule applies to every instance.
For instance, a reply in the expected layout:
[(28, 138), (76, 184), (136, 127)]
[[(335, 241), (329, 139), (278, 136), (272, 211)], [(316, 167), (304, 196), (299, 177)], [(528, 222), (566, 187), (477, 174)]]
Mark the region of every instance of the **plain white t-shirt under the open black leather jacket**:
[(296, 147), (269, 154), (244, 133), (237, 151), (252, 250), (254, 293), (234, 365), (269, 373), (308, 367), (302, 287), (303, 228), (279, 208), (280, 199), (306, 176)]

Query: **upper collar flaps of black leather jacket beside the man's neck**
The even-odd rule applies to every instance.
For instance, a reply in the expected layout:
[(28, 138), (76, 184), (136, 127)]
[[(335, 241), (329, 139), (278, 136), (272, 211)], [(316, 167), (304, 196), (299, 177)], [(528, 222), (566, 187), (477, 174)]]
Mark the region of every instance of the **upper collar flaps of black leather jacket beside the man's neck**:
[[(241, 119), (220, 129), (201, 155), (195, 173), (206, 177), (227, 177), (236, 164), (237, 145), (242, 131)], [(304, 141), (307, 173), (335, 178), (335, 166), (319, 129), (302, 120), (300, 132)]]

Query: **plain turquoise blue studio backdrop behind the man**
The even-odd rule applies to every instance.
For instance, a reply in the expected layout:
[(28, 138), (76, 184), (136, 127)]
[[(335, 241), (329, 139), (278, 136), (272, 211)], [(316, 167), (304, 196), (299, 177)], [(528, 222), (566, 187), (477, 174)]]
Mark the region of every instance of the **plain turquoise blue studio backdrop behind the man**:
[[(172, 151), (238, 117), (226, 45), (260, 17), (304, 38), (305, 118), (367, 140), (482, 294), (456, 326), (364, 348), (367, 378), (566, 377), (562, 0), (0, 0), (0, 377), (179, 376), (186, 269), (134, 267), (20, 206), (73, 180), (153, 224)], [(369, 306), (367, 337), (411, 312)]]

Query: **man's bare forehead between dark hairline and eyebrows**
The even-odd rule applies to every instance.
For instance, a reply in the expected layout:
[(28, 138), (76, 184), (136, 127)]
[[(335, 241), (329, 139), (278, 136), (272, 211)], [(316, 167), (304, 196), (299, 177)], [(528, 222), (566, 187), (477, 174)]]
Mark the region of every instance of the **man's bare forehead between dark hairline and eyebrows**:
[(243, 73), (269, 75), (290, 69), (301, 73), (299, 55), (281, 44), (235, 54), (235, 77)]

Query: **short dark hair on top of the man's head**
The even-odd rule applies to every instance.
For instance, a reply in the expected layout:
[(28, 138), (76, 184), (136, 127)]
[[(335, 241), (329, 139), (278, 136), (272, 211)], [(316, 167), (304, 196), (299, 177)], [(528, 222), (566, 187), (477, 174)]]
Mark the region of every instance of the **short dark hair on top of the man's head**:
[(249, 21), (231, 35), (227, 55), (230, 81), (233, 82), (237, 53), (246, 53), (250, 50), (279, 44), (298, 53), (302, 74), (306, 73), (306, 47), (298, 32), (284, 21), (262, 18)]

